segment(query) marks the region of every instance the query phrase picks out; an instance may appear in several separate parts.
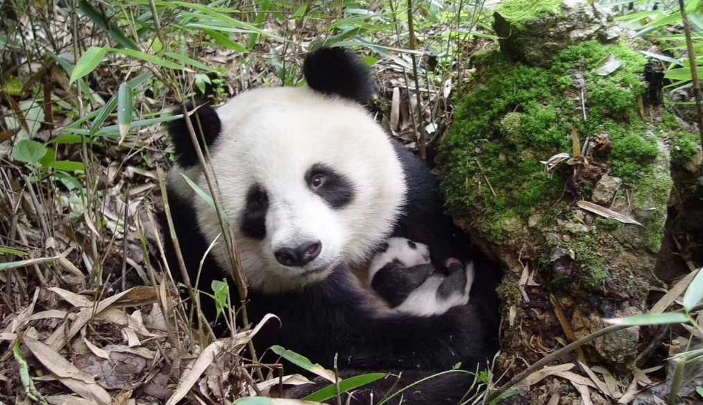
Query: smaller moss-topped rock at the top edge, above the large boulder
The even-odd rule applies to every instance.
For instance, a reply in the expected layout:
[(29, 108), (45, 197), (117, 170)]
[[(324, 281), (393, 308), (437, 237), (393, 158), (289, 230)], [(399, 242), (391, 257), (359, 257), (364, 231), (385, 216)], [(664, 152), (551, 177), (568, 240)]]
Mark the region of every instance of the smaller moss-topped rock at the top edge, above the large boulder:
[(494, 20), (503, 51), (536, 66), (547, 65), (568, 46), (617, 41), (622, 32), (607, 11), (585, 0), (507, 0)]

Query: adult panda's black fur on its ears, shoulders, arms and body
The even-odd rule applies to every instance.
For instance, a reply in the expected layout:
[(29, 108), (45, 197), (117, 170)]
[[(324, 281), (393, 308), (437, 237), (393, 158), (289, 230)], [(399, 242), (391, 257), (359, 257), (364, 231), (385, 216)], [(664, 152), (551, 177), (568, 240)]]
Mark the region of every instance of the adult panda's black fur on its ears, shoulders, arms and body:
[[(366, 67), (352, 53), (340, 48), (311, 54), (304, 72), (309, 86), (320, 93), (359, 103), (368, 101), (373, 94), (373, 82)], [(200, 120), (200, 126), (194, 125), (198, 138), (205, 139), (208, 146), (217, 143), (220, 131), (217, 112), (209, 105), (200, 105), (195, 114)], [(199, 128), (204, 132), (200, 133)], [(169, 134), (179, 166), (187, 169), (197, 165), (198, 159), (183, 121), (170, 124)], [(465, 235), (444, 214), (439, 186), (429, 168), (396, 142), (394, 149), (404, 168), (408, 192), (404, 213), (397, 221), (393, 235), (430, 246), (432, 262), (438, 267), (450, 257), (464, 259), (472, 256), (480, 269), (482, 262), (475, 252), (467, 251), (470, 245)], [(191, 280), (194, 280), (208, 245), (199, 228), (193, 201), (181, 197), (170, 186), (167, 197), (183, 260)], [(164, 233), (167, 260), (178, 279), (179, 272), (174, 271), (178, 262), (168, 232)], [(212, 255), (205, 258), (202, 269), (200, 286), (205, 291), (213, 280), (226, 278), (224, 269)], [(482, 272), (477, 273), (477, 282), (480, 283)], [(262, 328), (254, 340), (255, 347), (262, 352), (271, 345), (282, 345), (330, 368), (335, 354), (338, 354), (342, 376), (370, 371), (412, 371), (404, 374), (415, 380), (446, 371), (458, 363), (463, 369), (475, 371), (477, 366), (483, 368), (497, 349), (497, 305), (490, 294), (488, 298), (475, 294), (468, 305), (453, 307), (439, 316), (378, 316), (368, 305), (363, 292), (354, 287), (350, 277), (354, 277), (352, 271), (342, 263), (323, 281), (299, 291), (264, 293), (250, 288), (247, 300), (250, 320), (256, 323), (269, 313), (280, 318), (280, 324), (269, 321)], [(489, 274), (485, 278), (486, 285), (493, 283), (491, 277), (497, 276)], [(236, 293), (236, 288), (230, 288), (230, 291)], [(203, 298), (201, 302), (205, 314), (214, 314), (212, 299)], [(238, 299), (233, 298), (233, 302)], [(464, 375), (434, 378), (418, 390), (407, 392), (403, 403), (456, 404), (472, 380)], [(371, 394), (378, 400), (390, 386), (386, 387), (385, 383), (354, 395), (352, 404), (368, 404)], [(402, 386), (399, 384), (397, 388)], [(304, 386), (292, 392), (298, 396), (316, 388), (319, 386)]]

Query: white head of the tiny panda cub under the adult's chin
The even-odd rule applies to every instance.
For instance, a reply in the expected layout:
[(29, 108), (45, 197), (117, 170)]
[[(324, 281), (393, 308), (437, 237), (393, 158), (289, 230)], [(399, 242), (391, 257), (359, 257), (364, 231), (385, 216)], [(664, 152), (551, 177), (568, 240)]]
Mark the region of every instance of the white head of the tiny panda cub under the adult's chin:
[(368, 267), (368, 279), (373, 280), (378, 270), (389, 263), (395, 263), (404, 268), (427, 265), (430, 263), (430, 248), (405, 238), (389, 238), (381, 246), (380, 251), (373, 256)]

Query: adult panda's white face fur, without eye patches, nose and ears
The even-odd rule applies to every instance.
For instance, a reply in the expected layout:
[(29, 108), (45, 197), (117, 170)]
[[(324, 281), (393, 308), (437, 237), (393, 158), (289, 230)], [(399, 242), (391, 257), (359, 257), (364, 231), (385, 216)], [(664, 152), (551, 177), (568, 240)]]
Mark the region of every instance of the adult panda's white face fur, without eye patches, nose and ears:
[[(392, 231), (406, 195), (403, 169), (387, 135), (356, 102), (309, 88), (259, 88), (233, 98), (217, 115), (221, 133), (209, 152), (250, 286), (274, 293), (324, 279), (335, 265), (368, 260)], [(330, 208), (309, 190), (304, 174), (316, 163), (351, 180), (348, 206)], [(205, 176), (199, 165), (176, 166), (169, 185), (194, 202), (209, 243), (221, 233), (217, 214), (182, 175), (209, 193)], [(269, 194), (263, 241), (240, 233), (240, 213), (254, 183)], [(321, 241), (322, 250), (304, 267), (285, 267), (273, 255), (310, 239)], [(224, 246), (212, 252), (226, 267)]]

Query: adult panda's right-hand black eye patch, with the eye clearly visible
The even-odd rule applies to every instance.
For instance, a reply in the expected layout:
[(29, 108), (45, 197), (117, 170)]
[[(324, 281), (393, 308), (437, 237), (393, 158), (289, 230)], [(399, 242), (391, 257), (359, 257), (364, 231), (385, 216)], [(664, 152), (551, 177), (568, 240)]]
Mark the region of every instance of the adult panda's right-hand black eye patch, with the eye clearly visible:
[(325, 164), (312, 165), (305, 173), (305, 182), (332, 208), (344, 208), (354, 199), (352, 180)]

